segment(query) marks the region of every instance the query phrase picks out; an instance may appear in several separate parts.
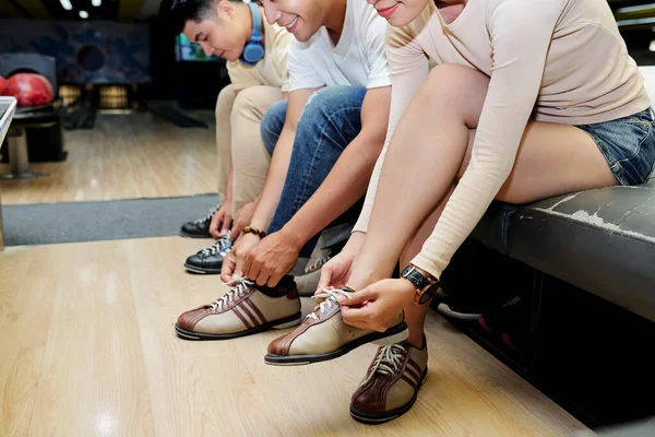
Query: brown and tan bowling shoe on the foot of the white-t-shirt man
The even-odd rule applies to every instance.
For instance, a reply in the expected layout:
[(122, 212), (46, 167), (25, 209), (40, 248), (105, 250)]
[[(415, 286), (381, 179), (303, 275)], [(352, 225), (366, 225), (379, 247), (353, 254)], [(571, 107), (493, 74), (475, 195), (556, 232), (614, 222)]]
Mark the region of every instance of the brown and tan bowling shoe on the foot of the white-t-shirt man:
[(252, 281), (240, 280), (219, 299), (182, 314), (175, 330), (189, 340), (228, 340), (300, 323), (300, 297), (295, 282), (282, 297), (271, 297)]

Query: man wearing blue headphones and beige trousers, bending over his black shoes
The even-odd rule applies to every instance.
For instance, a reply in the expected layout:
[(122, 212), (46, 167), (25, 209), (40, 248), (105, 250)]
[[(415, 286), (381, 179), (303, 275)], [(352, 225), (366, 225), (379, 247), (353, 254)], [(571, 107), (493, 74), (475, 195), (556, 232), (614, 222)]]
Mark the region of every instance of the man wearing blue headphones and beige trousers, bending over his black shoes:
[(288, 91), (287, 44), (284, 27), (263, 20), (254, 3), (227, 0), (164, 0), (159, 16), (176, 33), (183, 33), (207, 56), (227, 60), (231, 84), (216, 103), (218, 193), (222, 203), (204, 217), (187, 223), (181, 235), (214, 237), (217, 241), (187, 258), (184, 267), (198, 273), (219, 273), (231, 248), (233, 235), (249, 224), (257, 206), (270, 155), (260, 134), (260, 122), (273, 103)]

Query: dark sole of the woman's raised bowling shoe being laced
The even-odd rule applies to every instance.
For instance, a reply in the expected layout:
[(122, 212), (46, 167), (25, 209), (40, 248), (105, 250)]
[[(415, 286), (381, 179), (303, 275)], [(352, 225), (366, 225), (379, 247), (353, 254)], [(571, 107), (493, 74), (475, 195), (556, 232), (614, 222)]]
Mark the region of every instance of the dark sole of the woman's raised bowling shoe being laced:
[(312, 354), (312, 355), (264, 355), (264, 363), (271, 366), (305, 366), (308, 364), (326, 362), (330, 359), (338, 358), (342, 355), (364, 345), (367, 343), (373, 343), (378, 346), (386, 346), (389, 344), (400, 343), (407, 339), (409, 330), (407, 323), (402, 322), (393, 328), (388, 329), (384, 332), (372, 332), (362, 338), (354, 340), (349, 343), (344, 344), (336, 351), (327, 352), (324, 354)]

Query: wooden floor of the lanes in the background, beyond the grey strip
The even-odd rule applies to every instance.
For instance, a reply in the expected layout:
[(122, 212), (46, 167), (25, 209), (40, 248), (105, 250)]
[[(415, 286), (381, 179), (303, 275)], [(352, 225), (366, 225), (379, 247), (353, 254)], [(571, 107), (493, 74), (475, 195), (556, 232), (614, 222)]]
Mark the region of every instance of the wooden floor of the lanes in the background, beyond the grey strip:
[(93, 130), (66, 131), (67, 161), (31, 164), (48, 177), (2, 180), (2, 204), (216, 192), (214, 126), (181, 129), (150, 113), (100, 115)]

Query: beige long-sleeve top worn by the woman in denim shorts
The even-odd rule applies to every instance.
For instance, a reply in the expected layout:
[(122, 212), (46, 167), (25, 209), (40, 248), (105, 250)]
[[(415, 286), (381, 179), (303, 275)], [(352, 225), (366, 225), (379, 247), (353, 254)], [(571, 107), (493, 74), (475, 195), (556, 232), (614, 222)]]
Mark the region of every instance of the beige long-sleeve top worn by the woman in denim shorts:
[(426, 80), (428, 62), (462, 64), (490, 78), (471, 164), (412, 261), (434, 277), (440, 277), (508, 178), (531, 117), (585, 125), (650, 106), (643, 78), (605, 0), (469, 0), (450, 24), (430, 1), (409, 25), (389, 27), (388, 59), (392, 74), (388, 137), (355, 226), (360, 232), (368, 226), (395, 126)]

